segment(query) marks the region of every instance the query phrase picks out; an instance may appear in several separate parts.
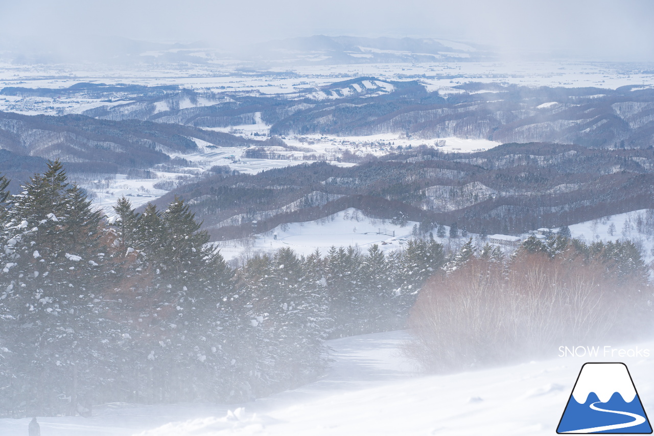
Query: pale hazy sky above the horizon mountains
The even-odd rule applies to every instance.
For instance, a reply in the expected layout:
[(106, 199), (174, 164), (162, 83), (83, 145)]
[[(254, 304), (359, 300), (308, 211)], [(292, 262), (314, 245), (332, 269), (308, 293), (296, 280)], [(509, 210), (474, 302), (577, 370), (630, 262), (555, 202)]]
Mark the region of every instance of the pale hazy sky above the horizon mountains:
[(230, 46), (326, 35), (441, 37), (506, 52), (654, 62), (653, 0), (0, 0), (0, 33)]

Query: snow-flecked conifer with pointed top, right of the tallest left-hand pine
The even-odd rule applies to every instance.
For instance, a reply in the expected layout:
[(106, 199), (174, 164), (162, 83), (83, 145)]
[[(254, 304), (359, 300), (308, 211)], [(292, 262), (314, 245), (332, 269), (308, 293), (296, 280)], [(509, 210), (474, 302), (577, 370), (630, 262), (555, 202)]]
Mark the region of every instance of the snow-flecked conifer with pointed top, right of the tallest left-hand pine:
[[(126, 206), (126, 205), (124, 205)], [(132, 213), (124, 208), (124, 215)], [(224, 394), (222, 341), (230, 315), (233, 272), (181, 198), (159, 213), (148, 204), (136, 221), (132, 322), (135, 359), (156, 401), (215, 399)], [(123, 289), (126, 292), (126, 289)], [(129, 299), (128, 299), (129, 300)], [(138, 311), (138, 312), (137, 312)], [(154, 382), (161, 386), (153, 391)]]

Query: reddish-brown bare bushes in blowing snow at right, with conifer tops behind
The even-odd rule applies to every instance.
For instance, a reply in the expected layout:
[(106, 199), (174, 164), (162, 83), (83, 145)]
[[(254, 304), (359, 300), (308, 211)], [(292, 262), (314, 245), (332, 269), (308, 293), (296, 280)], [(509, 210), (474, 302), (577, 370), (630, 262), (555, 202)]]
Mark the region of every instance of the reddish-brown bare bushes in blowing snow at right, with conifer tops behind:
[(466, 245), (411, 311), (415, 340), (405, 352), (426, 371), (553, 356), (559, 346), (625, 342), (651, 330), (649, 271), (628, 240), (531, 237), (509, 258)]

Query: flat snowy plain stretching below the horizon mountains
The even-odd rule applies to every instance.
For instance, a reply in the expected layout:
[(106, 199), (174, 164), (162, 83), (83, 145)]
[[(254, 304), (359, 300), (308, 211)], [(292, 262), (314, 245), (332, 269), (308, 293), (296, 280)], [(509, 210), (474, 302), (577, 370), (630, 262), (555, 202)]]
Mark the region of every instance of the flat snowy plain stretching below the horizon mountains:
[[(651, 87), (651, 64), (602, 62), (440, 62), (424, 64), (310, 65), (271, 67), (244, 72), (242, 65), (18, 65), (0, 64), (0, 88), (67, 88), (79, 82), (179, 85), (182, 88), (238, 94), (294, 94), (355, 77), (390, 81), (419, 80), (430, 91), (460, 92), (452, 87), (467, 82), (501, 82), (526, 86)], [(125, 103), (125, 101), (117, 102)], [(92, 98), (22, 98), (0, 96), (0, 111), (35, 115), (81, 113), (107, 105)]]

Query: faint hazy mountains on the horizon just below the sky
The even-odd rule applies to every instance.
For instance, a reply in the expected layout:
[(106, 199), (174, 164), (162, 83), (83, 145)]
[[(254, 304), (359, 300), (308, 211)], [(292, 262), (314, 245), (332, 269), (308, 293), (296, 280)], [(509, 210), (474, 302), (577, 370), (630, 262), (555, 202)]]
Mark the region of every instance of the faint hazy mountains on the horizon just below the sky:
[[(62, 39), (63, 38), (63, 39)], [(445, 60), (492, 60), (489, 47), (433, 38), (364, 38), (314, 35), (217, 48), (198, 41), (165, 44), (124, 37), (87, 35), (53, 41), (0, 35), (0, 60), (14, 64), (220, 64), (228, 60), (263, 64), (376, 64), (441, 62)]]

